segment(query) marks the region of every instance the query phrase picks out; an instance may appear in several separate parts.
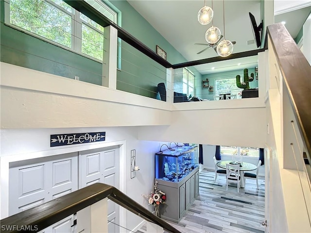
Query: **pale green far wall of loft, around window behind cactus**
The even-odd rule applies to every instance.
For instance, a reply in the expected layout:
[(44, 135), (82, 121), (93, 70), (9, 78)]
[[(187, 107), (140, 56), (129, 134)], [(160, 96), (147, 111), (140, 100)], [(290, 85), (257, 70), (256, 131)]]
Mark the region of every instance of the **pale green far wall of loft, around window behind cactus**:
[[(248, 68), (248, 75), (250, 76), (250, 73), (254, 73), (255, 75), (255, 67), (254, 68)], [(201, 95), (199, 96), (202, 99), (207, 100), (214, 100), (215, 95), (215, 80), (216, 79), (224, 79), (224, 78), (236, 78), (237, 75), (240, 75), (241, 77), (244, 76), (244, 68), (239, 70), (231, 70), (226, 72), (219, 72), (219, 73), (213, 73), (213, 74), (205, 74), (202, 76), (201, 79), (201, 86), (197, 85), (197, 88), (200, 89)], [(203, 87), (202, 80), (208, 79), (209, 85), (214, 87), (214, 91), (210, 92), (208, 91), (207, 87)], [(254, 80), (252, 82), (249, 82), (250, 88), (256, 88), (258, 87), (258, 81)], [(238, 87), (236, 87), (239, 89)], [(240, 88), (241, 89), (241, 88)], [(243, 90), (243, 89), (241, 89)], [(197, 91), (199, 92), (199, 91)]]

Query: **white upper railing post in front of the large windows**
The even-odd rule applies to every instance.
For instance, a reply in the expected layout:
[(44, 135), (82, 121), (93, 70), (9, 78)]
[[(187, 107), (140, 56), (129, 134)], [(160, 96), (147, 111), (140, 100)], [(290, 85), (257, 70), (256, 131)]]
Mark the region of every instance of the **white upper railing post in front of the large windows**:
[(118, 30), (112, 26), (104, 28), (102, 86), (117, 89)]

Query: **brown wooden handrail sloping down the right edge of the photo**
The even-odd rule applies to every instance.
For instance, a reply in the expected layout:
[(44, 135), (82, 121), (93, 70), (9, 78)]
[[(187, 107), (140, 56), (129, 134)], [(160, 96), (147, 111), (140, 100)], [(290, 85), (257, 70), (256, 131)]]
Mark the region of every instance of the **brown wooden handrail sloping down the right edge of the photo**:
[(267, 33), (306, 149), (311, 155), (311, 67), (282, 23), (267, 27)]

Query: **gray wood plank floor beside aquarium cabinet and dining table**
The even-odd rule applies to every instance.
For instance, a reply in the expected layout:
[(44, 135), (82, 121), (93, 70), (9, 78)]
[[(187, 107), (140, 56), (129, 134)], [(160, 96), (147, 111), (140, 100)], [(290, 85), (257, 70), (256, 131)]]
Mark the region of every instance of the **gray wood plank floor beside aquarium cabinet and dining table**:
[[(225, 174), (203, 169), (200, 172), (200, 196), (180, 222), (170, 223), (182, 233), (264, 233), (264, 179), (246, 179), (237, 192), (235, 183), (225, 190)], [(137, 233), (146, 233), (143, 226)]]

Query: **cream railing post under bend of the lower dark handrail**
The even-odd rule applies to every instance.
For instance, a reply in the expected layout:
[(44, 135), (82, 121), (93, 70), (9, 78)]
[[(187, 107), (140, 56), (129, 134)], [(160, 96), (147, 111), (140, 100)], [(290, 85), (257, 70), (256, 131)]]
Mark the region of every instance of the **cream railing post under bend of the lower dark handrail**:
[(108, 232), (107, 198), (77, 212), (77, 233)]

